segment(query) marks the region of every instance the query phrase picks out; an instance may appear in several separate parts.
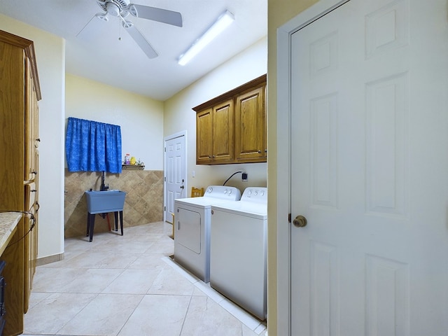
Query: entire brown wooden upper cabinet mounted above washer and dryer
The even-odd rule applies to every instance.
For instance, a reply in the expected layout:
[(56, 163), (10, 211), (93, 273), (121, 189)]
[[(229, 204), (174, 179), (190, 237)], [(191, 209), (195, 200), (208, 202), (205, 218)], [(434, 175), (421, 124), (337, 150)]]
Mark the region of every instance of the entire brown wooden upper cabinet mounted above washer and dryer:
[(266, 162), (266, 75), (193, 108), (196, 164)]

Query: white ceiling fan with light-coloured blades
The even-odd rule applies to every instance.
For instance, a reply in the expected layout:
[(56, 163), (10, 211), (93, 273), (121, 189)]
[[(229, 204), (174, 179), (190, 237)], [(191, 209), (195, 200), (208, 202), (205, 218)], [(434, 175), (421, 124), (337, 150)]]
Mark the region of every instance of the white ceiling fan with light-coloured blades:
[[(182, 27), (182, 15), (181, 13), (174, 12), (172, 10), (137, 5), (136, 3), (130, 3), (130, 0), (97, 0), (98, 6), (104, 10), (104, 13), (97, 13), (94, 17), (87, 22), (87, 25), (97, 18), (102, 21), (109, 21), (109, 16), (119, 18), (121, 25), (130, 34), (134, 41), (139, 45), (141, 50), (144, 51), (148, 58), (155, 58), (158, 53), (154, 50), (153, 46), (146, 40), (145, 36), (134, 26), (127, 17), (131, 14), (136, 18), (142, 18), (147, 20), (158, 21), (167, 23), (168, 25), (174, 25)], [(87, 27), (85, 25), (85, 27)], [(84, 27), (84, 28), (85, 28)], [(83, 29), (84, 29), (83, 28)], [(81, 31), (83, 31), (81, 29)], [(78, 33), (78, 35), (81, 33)]]

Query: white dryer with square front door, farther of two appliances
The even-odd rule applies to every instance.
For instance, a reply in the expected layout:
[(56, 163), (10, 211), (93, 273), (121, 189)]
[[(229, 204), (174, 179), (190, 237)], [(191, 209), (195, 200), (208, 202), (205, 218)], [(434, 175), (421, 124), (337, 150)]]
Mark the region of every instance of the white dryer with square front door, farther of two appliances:
[(211, 205), (240, 198), (238, 188), (209, 186), (203, 197), (174, 201), (174, 260), (206, 283), (210, 281)]

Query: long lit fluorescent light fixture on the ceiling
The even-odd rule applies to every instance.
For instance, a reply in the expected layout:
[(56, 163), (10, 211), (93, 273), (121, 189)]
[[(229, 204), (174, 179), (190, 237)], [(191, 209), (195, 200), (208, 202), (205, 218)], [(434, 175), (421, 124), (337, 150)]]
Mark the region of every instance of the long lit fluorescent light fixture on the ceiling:
[(209, 44), (211, 41), (213, 41), (216, 36), (221, 34), (221, 32), (227, 28), (233, 21), (235, 20), (235, 17), (232, 13), (230, 13), (228, 10), (225, 11), (216, 22), (211, 25), (207, 31), (200, 36), (200, 38), (197, 38), (195, 43), (188, 49), (186, 52), (184, 52), (181, 57), (179, 57), (178, 63), (181, 65), (185, 65), (190, 60), (197, 55), (198, 52), (200, 52), (207, 44)]

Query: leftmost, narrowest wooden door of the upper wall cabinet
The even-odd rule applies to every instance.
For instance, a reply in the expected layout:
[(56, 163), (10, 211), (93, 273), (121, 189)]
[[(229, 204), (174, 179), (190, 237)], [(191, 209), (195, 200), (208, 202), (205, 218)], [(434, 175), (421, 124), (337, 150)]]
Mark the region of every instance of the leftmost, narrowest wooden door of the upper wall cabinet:
[(207, 109), (196, 114), (196, 163), (211, 161), (213, 152), (213, 110)]

